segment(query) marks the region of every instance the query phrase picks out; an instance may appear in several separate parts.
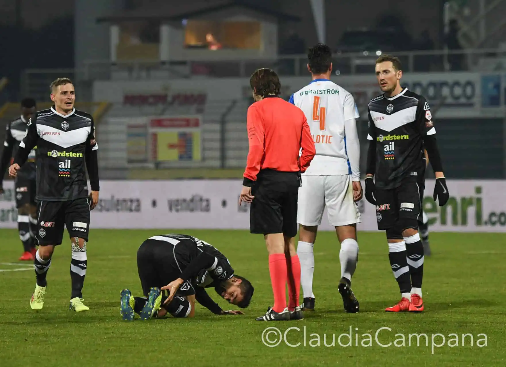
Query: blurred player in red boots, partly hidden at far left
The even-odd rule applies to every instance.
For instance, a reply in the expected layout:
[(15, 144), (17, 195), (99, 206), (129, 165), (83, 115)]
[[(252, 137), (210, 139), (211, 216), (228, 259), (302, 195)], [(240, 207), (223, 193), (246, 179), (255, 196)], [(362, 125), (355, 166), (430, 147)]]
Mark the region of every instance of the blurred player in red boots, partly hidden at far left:
[[(24, 98), (21, 101), (21, 116), (7, 124), (4, 151), (0, 159), (0, 194), (4, 192), (3, 179), (11, 158), (16, 155), (18, 146), (26, 134), (28, 121), (35, 113), (35, 100)], [(36, 172), (35, 172), (35, 149), (28, 153), (26, 164), (18, 171), (15, 182), (16, 208), (18, 209), (19, 238), (23, 243), (24, 252), (20, 260), (32, 260), (35, 256), (35, 232), (37, 230), (37, 204), (35, 202)]]

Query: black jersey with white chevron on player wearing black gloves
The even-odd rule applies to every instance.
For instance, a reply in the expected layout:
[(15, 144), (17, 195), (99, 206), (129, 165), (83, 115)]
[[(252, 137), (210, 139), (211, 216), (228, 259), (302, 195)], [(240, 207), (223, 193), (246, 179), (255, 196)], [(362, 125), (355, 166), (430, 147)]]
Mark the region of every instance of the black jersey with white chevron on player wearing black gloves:
[(425, 173), (424, 139), (436, 134), (429, 103), (407, 88), (368, 104), (368, 140), (376, 143), (375, 185), (398, 187), (403, 178)]

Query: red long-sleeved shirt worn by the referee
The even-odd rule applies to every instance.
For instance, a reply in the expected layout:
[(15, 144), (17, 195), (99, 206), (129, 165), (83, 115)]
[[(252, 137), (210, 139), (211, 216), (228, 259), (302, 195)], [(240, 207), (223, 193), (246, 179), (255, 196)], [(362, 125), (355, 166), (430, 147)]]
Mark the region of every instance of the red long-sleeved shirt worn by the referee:
[[(305, 172), (316, 149), (302, 110), (274, 95), (251, 104), (247, 114), (249, 152), (244, 185), (260, 170)], [(302, 148), (302, 155), (299, 152)]]

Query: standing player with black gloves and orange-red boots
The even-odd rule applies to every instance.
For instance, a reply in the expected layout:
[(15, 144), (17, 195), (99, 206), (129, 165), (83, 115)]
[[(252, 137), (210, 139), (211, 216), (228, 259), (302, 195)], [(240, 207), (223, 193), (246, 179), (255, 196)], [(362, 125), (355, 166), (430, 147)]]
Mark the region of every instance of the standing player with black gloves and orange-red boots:
[(376, 206), (378, 230), (386, 231), (390, 266), (401, 292), (401, 300), (386, 311), (419, 312), (424, 310), (424, 246), (418, 234), (424, 148), (436, 176), (433, 197), (439, 197), (440, 206), (448, 201), (448, 187), (429, 103), (401, 87), (402, 66), (396, 57), (376, 60), (376, 78), (384, 94), (368, 105), (365, 198)]

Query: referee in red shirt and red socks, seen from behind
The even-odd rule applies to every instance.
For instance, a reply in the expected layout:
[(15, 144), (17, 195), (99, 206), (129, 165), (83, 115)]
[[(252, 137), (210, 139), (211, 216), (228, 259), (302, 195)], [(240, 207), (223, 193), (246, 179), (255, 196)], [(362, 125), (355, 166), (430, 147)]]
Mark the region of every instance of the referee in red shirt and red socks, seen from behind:
[(309, 167), (315, 145), (304, 113), (278, 97), (281, 83), (274, 71), (255, 71), (249, 85), (255, 103), (247, 114), (249, 152), (239, 204), (251, 203), (250, 232), (264, 235), (274, 293), (274, 306), (257, 320), (300, 320), (301, 263), (293, 238), (300, 174)]

